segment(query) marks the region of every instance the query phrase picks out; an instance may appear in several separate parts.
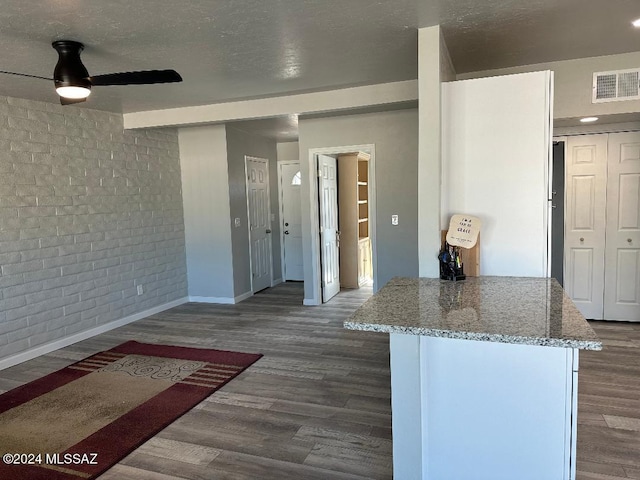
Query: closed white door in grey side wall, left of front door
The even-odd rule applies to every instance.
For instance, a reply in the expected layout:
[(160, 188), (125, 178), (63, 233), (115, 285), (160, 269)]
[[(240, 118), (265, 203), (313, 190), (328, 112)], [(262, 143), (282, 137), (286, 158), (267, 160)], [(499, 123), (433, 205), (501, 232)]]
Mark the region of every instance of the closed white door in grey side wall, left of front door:
[(253, 292), (271, 286), (271, 210), (269, 164), (264, 158), (245, 157), (247, 208)]

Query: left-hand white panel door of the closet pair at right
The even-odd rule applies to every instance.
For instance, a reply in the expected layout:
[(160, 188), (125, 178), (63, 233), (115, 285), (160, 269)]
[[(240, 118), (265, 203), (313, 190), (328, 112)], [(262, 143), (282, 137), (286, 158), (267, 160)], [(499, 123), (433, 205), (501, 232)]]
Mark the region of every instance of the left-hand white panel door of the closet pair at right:
[(564, 287), (586, 318), (604, 304), (607, 135), (567, 141)]

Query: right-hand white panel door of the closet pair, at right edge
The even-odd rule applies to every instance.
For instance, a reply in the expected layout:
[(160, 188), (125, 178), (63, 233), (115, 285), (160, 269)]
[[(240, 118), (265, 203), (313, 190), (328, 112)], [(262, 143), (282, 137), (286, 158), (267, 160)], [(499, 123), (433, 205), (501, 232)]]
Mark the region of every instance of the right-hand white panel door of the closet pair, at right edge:
[(640, 321), (640, 132), (609, 135), (604, 318)]

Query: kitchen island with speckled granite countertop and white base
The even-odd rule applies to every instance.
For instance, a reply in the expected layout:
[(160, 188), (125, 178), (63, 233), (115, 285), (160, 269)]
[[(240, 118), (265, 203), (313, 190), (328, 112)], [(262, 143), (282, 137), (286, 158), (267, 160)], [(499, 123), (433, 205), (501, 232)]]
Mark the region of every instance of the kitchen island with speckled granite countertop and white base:
[(578, 352), (549, 278), (394, 278), (345, 324), (390, 334), (395, 480), (575, 478)]

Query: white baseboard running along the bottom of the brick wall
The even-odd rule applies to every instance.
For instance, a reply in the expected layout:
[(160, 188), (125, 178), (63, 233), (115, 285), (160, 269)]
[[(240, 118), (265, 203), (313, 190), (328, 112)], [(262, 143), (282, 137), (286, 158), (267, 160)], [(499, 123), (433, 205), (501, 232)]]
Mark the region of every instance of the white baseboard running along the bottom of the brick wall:
[(96, 335), (108, 332), (109, 330), (113, 330), (114, 328), (122, 327), (137, 320), (141, 320), (150, 315), (164, 312), (165, 310), (177, 307), (178, 305), (182, 305), (183, 303), (187, 303), (188, 301), (189, 299), (187, 297), (179, 298), (172, 302), (149, 308), (148, 310), (144, 310), (143, 312), (138, 312), (133, 315), (129, 315), (128, 317), (114, 320), (112, 322), (105, 323), (104, 325), (99, 325), (94, 328), (90, 328), (89, 330), (74, 333), (73, 335), (54, 340), (53, 342), (45, 343), (44, 345), (38, 345), (37, 347), (30, 348), (29, 350), (26, 350), (24, 352), (20, 352), (15, 355), (0, 359), (0, 370), (4, 370), (5, 368), (9, 368), (19, 363), (26, 362), (27, 360), (31, 360), (41, 355), (51, 353), (60, 348), (68, 347), (69, 345), (72, 345), (74, 343), (86, 340), (91, 337), (95, 337)]

